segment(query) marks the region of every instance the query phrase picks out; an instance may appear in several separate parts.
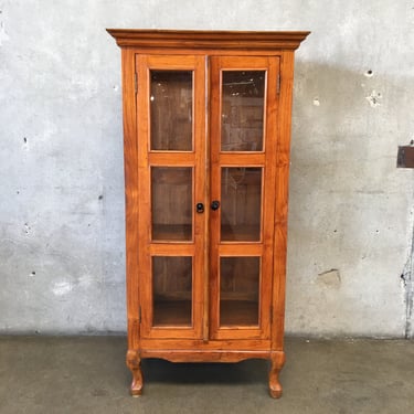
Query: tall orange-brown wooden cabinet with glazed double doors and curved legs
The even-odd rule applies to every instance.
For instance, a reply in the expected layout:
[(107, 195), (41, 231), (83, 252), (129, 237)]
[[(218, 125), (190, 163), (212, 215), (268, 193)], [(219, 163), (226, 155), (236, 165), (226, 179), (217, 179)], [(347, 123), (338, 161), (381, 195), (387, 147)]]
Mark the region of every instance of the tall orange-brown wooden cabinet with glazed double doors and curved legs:
[(294, 51), (308, 32), (108, 30), (121, 47), (127, 364), (272, 361), (278, 397)]

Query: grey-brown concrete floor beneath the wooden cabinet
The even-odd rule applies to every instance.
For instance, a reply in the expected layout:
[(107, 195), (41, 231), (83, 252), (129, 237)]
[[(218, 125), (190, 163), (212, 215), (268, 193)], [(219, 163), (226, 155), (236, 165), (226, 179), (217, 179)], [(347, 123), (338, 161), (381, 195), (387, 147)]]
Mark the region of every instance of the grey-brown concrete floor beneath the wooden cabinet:
[(0, 337), (0, 413), (414, 413), (414, 342), (286, 340), (284, 396), (267, 362), (144, 361), (128, 395), (124, 337)]

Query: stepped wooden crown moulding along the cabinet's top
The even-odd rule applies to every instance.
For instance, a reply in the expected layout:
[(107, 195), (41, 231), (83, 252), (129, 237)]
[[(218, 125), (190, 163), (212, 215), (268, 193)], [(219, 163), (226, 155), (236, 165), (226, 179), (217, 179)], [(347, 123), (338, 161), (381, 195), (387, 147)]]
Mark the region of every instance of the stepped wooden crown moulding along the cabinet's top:
[(310, 32), (107, 29), (119, 46), (161, 49), (295, 50)]

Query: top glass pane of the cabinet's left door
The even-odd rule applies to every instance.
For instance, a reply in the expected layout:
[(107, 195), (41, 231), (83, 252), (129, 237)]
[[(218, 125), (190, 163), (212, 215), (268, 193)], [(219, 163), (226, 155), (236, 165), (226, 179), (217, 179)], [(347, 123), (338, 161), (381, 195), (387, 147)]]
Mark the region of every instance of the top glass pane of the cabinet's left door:
[(151, 149), (192, 150), (192, 72), (151, 71)]

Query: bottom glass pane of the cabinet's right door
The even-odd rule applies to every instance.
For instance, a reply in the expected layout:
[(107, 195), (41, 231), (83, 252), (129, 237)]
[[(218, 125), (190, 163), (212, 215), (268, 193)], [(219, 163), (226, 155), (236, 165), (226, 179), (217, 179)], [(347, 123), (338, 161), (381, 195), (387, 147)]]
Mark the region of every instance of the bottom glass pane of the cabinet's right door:
[(259, 257), (220, 258), (220, 325), (258, 325)]

